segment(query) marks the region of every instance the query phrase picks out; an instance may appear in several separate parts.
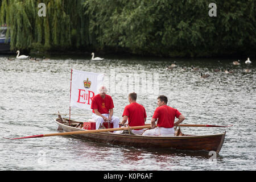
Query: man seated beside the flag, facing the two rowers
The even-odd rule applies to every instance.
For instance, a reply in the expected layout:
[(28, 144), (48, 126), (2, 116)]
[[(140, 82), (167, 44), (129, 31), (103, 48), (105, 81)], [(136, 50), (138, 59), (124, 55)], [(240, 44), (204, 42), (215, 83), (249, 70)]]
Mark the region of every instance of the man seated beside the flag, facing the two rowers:
[(114, 128), (119, 127), (119, 118), (113, 116), (114, 104), (112, 97), (106, 94), (108, 92), (106, 86), (101, 86), (99, 92), (100, 94), (93, 97), (90, 106), (93, 111), (92, 118), (96, 121), (96, 130), (100, 128), (104, 121), (113, 123)]

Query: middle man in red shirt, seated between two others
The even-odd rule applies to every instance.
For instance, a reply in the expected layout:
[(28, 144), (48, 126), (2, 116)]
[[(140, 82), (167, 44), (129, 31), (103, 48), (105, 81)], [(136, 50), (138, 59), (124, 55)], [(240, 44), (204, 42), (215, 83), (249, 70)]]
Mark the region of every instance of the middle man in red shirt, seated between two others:
[[(123, 120), (121, 125), (124, 125), (128, 119), (129, 126), (144, 126), (147, 114), (145, 108), (136, 102), (137, 94), (135, 92), (130, 93), (128, 100), (130, 104), (125, 106), (125, 110), (123, 110)], [(142, 134), (144, 130), (137, 129), (131, 131), (135, 134)]]

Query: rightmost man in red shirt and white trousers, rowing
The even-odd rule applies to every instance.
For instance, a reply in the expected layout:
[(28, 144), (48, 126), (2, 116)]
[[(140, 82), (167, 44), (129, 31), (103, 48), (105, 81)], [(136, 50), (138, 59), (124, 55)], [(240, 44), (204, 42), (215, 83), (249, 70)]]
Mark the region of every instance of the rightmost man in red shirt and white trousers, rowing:
[[(177, 110), (167, 106), (168, 98), (166, 96), (158, 97), (158, 107), (151, 119), (151, 130), (146, 130), (143, 135), (160, 136), (174, 135), (174, 126), (179, 125), (185, 117)], [(175, 117), (179, 120), (174, 122)], [(155, 128), (155, 122), (158, 119), (158, 127)]]

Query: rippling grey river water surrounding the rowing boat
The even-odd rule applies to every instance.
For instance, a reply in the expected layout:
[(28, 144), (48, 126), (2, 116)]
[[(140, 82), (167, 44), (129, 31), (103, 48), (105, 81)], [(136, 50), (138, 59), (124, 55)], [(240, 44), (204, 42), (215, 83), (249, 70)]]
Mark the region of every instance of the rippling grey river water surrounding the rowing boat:
[[(233, 59), (161, 59), (106, 56), (51, 57), (42, 61), (7, 60), (0, 57), (0, 170), (255, 170), (256, 86), (255, 64), (234, 66)], [(166, 67), (176, 61), (177, 67)], [(254, 62), (253, 62), (254, 63)], [(209, 73), (191, 71), (191, 65)], [(181, 67), (187, 68), (182, 70)], [(220, 154), (143, 149), (94, 143), (73, 137), (9, 140), (56, 133), (53, 113), (69, 113), (71, 69), (105, 73), (120, 119), (131, 90), (144, 105), (147, 123), (156, 108), (156, 97), (164, 94), (168, 105), (185, 117), (183, 123), (230, 125), (233, 127), (187, 127), (185, 134), (216, 134), (226, 131)], [(220, 68), (221, 72), (213, 69)], [(234, 73), (226, 74), (225, 69)], [(250, 73), (245, 73), (250, 68)], [(130, 77), (129, 77), (130, 76)], [(140, 78), (146, 86), (135, 84)], [(71, 113), (90, 114), (72, 108)], [(74, 116), (82, 121), (86, 117)]]

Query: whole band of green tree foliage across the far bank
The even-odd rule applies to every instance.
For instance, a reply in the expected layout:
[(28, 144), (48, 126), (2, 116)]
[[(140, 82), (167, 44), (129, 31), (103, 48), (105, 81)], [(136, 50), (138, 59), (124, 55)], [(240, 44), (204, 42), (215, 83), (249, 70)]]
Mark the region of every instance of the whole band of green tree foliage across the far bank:
[[(37, 15), (38, 3), (47, 16)], [(139, 55), (216, 56), (255, 52), (255, 1), (2, 0), (12, 49), (90, 46)]]

